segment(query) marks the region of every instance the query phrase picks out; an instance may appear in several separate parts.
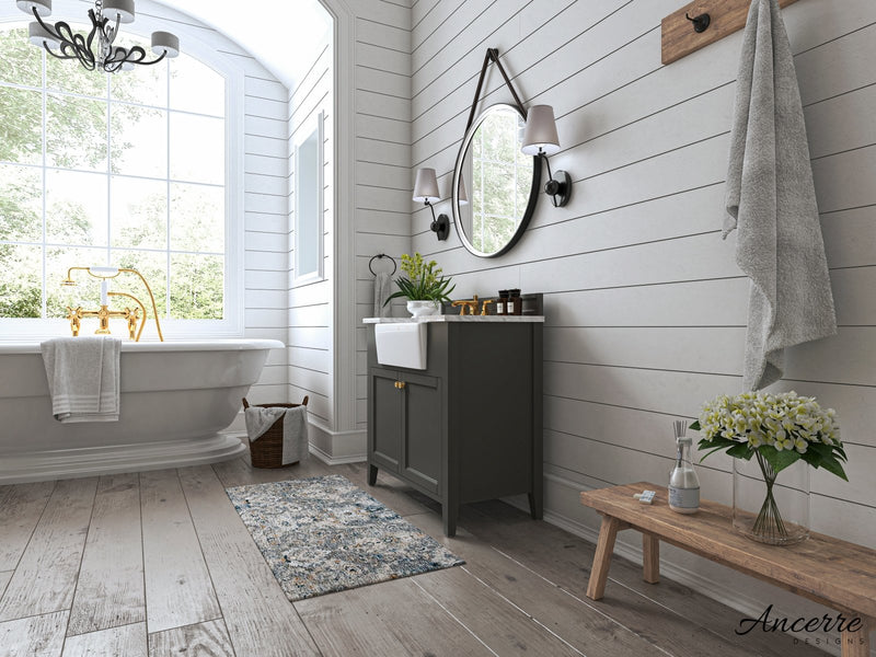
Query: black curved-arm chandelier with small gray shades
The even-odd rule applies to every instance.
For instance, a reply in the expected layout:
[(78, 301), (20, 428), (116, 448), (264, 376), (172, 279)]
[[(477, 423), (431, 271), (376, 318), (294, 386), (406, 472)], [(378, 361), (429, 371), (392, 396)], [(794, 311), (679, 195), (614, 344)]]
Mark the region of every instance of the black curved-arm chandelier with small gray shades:
[(94, 9), (89, 10), (91, 32), (88, 36), (73, 32), (64, 21), (54, 25), (44, 22), (43, 16), (51, 14), (51, 0), (16, 0), (16, 4), (36, 19), (27, 26), (32, 44), (58, 59), (77, 59), (90, 71), (103, 69), (115, 73), (119, 69), (130, 70), (135, 65), (151, 66), (180, 54), (180, 39), (170, 32), (152, 33), (155, 59), (149, 61), (140, 46), (125, 48), (113, 45), (118, 36), (118, 26), (134, 22), (134, 0), (95, 0)]

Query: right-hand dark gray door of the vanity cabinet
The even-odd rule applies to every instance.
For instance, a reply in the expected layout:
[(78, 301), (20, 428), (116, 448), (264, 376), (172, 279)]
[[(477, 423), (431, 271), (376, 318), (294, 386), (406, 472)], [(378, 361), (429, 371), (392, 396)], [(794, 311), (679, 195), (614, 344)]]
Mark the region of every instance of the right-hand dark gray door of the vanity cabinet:
[(401, 474), (424, 489), (440, 494), (441, 379), (399, 372), (402, 395)]

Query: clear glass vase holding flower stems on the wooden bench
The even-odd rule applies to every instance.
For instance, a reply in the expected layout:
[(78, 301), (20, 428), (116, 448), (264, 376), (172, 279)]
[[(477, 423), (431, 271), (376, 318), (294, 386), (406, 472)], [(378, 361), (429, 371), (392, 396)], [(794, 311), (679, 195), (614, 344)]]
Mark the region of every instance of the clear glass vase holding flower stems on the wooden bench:
[(752, 541), (792, 545), (809, 538), (809, 465), (776, 473), (763, 457), (733, 460), (733, 526)]

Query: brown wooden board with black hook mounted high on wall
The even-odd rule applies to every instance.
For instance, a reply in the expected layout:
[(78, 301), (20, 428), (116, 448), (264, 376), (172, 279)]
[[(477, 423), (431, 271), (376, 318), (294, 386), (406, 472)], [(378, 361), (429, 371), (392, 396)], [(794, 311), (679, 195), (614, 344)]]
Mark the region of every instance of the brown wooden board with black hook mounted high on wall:
[[(779, 0), (779, 7), (787, 7), (797, 0)], [(661, 57), (671, 64), (691, 53), (721, 41), (746, 26), (751, 0), (694, 0), (660, 22)], [(704, 32), (693, 31), (684, 14), (691, 18), (707, 13), (711, 18)]]

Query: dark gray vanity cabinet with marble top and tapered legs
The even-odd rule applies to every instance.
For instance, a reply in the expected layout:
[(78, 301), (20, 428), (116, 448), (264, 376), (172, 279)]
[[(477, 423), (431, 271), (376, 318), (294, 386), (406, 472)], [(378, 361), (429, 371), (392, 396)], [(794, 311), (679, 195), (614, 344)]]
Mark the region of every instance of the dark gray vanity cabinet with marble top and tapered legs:
[(390, 472), (442, 507), (527, 493), (542, 516), (542, 316), (437, 315), (426, 369), (381, 365), (367, 319), (368, 483)]

